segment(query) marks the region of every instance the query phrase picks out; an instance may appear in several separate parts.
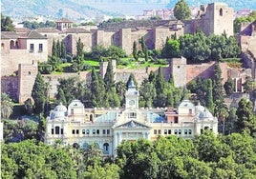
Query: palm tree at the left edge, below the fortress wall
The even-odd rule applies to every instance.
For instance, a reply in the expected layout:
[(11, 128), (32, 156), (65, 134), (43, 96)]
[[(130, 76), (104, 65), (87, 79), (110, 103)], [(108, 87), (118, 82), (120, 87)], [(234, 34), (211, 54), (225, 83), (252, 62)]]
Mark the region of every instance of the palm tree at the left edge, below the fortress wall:
[(13, 102), (7, 93), (1, 93), (1, 116), (9, 118), (13, 109)]

